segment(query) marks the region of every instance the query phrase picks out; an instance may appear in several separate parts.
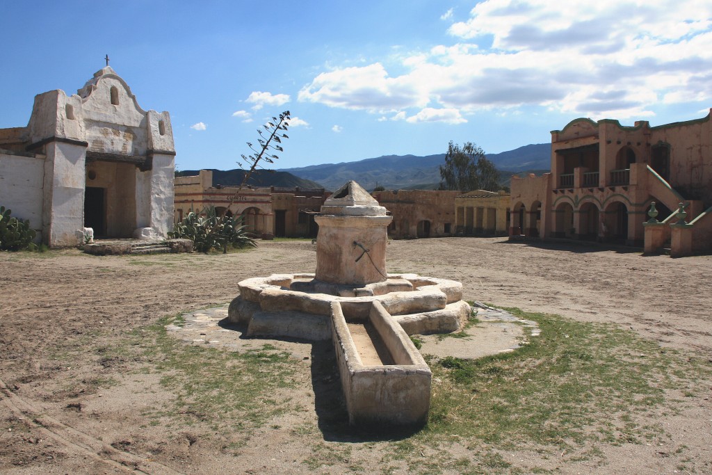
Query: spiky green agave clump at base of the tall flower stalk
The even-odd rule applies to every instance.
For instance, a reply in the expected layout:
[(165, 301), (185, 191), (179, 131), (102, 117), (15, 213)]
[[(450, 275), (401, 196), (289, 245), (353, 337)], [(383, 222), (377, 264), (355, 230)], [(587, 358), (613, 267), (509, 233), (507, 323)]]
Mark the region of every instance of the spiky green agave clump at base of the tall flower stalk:
[(246, 234), (241, 216), (217, 216), (213, 205), (205, 207), (200, 214), (189, 212), (173, 226), (168, 236), (172, 239), (190, 239), (194, 243), (193, 249), (199, 252), (218, 249), (226, 253), (228, 246), (257, 246), (255, 240)]

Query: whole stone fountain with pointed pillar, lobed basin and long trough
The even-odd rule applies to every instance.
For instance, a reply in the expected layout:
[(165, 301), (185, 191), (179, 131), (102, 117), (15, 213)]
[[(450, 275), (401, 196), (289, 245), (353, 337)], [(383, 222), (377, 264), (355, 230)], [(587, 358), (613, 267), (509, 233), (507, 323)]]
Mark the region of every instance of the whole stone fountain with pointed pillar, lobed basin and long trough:
[(229, 320), (248, 336), (332, 340), (351, 424), (424, 424), (431, 372), (409, 335), (460, 330), (462, 284), (387, 273), (392, 216), (356, 182), (315, 219), (316, 272), (241, 281)]

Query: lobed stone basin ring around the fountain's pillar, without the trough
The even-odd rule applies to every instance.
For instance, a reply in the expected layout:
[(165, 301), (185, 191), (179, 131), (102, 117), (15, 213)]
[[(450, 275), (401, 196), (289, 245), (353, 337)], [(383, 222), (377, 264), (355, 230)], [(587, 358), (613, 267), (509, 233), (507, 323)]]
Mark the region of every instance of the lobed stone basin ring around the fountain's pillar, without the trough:
[[(471, 313), (456, 281), (404, 273), (388, 274), (387, 281), (366, 286), (334, 286), (314, 276), (273, 274), (241, 281), (229, 321), (246, 324), (249, 336), (328, 340), (332, 335), (326, 317), (333, 302), (350, 318), (362, 320), (370, 315), (372, 303), (379, 302), (408, 335), (458, 331)], [(392, 288), (412, 290), (388, 291)]]

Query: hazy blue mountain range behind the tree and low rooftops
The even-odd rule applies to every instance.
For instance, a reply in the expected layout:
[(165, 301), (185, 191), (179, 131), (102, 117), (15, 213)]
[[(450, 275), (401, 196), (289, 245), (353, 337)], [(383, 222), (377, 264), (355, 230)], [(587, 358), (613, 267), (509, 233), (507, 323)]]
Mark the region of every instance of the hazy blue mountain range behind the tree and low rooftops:
[[(503, 172), (503, 181), (508, 174), (533, 169), (548, 170), (551, 162), (551, 144), (533, 144), (501, 153), (486, 154)], [(365, 189), (382, 186), (386, 189), (434, 189), (440, 182), (439, 166), (444, 164), (445, 154), (385, 155), (357, 162), (327, 163), (309, 167), (284, 168), (297, 177), (313, 180), (329, 190), (335, 190), (350, 179), (356, 180)]]

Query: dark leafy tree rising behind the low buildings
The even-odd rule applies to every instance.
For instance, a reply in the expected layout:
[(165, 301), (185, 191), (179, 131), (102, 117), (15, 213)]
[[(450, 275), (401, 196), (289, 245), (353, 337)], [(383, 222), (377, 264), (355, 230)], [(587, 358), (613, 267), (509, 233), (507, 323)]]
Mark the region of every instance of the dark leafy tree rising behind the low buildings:
[(445, 164), (440, 166), (440, 179), (440, 189), (495, 192), (500, 188), (499, 171), (487, 160), (485, 152), (472, 142), (465, 142), (462, 147), (452, 140), (449, 142)]

